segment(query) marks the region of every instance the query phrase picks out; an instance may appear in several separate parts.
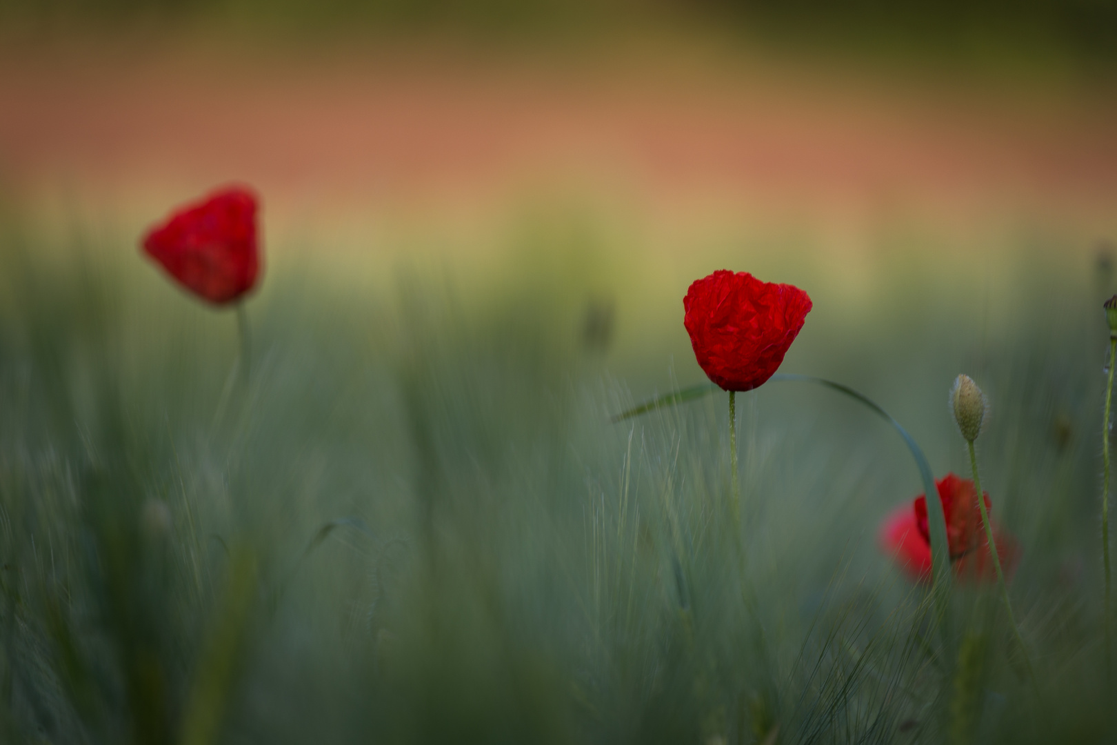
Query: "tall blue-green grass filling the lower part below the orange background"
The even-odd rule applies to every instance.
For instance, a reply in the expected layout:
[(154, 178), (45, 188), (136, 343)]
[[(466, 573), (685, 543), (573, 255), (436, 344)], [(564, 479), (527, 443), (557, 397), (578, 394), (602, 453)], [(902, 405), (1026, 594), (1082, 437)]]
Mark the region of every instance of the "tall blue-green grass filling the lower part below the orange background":
[[(17, 227), (0, 250), (3, 742), (1115, 732), (1090, 436), (1105, 334), (1071, 271), (1022, 274), (1030, 304), (987, 331), (948, 295), (890, 314), (892, 293), (936, 297), (919, 283), (937, 278), (909, 277), (846, 340), (820, 286), (784, 367), (881, 400), (939, 476), (965, 465), (947, 389), (981, 369), (997, 402), (983, 475), (1024, 547), (1009, 589), (1037, 691), (995, 588), (955, 588), (949, 649), (926, 590), (879, 553), (880, 518), (920, 487), (849, 401), (738, 397), (741, 560), (724, 401), (611, 423), (675, 384), (643, 362), (666, 371), (668, 351), (656, 329), (603, 353), (572, 279), (526, 271), (480, 297), (403, 270), (356, 290), (277, 251), (248, 306), (245, 386), (232, 315), (131, 250)], [(618, 323), (641, 311), (618, 304)]]

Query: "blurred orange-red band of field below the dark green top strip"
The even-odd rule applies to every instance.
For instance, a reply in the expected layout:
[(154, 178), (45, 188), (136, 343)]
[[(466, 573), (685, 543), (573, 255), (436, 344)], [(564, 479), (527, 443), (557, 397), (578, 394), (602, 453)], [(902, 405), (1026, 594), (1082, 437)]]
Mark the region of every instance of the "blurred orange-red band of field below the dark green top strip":
[(16, 189), (99, 208), (238, 178), (299, 217), (491, 213), (557, 184), (671, 217), (1106, 219), (1104, 80), (860, 73), (656, 37), (582, 51), (12, 45), (0, 163)]

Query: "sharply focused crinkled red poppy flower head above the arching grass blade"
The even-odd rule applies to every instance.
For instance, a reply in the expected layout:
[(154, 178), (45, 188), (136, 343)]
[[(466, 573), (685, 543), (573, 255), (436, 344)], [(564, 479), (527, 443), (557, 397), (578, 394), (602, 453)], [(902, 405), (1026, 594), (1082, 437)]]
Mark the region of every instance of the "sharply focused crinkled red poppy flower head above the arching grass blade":
[(811, 298), (792, 285), (720, 269), (690, 285), (682, 308), (703, 371), (726, 391), (751, 391), (783, 362)]

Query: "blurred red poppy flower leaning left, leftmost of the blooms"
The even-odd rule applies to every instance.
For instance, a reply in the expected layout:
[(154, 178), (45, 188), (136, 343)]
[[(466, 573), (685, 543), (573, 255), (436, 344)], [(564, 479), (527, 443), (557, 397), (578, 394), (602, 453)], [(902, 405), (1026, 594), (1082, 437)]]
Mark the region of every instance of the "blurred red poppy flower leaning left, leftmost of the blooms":
[(218, 305), (256, 284), (256, 194), (242, 187), (216, 191), (152, 228), (143, 248), (195, 295)]

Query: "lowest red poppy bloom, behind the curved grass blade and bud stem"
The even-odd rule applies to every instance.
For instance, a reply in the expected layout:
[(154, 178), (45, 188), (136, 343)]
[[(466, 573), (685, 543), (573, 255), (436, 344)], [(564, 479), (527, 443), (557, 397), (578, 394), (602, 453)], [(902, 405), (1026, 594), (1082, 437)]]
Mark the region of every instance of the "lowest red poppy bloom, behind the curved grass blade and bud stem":
[[(946, 516), (946, 542), (951, 564), (957, 576), (974, 576), (993, 581), (993, 569), (985, 527), (981, 522), (974, 483), (947, 474), (935, 481), (938, 498)], [(985, 508), (991, 509), (989, 493), (982, 495)], [(1020, 550), (1012, 536), (993, 524), (996, 553), (1006, 574), (1012, 574), (1020, 558)], [(891, 554), (908, 576), (919, 582), (930, 580), (930, 532), (927, 525), (927, 498), (919, 495), (914, 502), (897, 507), (880, 527), (880, 547)]]

